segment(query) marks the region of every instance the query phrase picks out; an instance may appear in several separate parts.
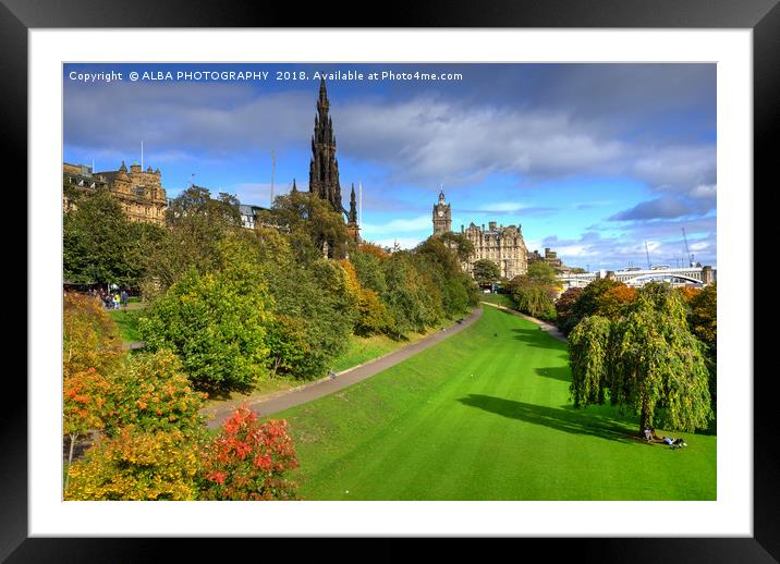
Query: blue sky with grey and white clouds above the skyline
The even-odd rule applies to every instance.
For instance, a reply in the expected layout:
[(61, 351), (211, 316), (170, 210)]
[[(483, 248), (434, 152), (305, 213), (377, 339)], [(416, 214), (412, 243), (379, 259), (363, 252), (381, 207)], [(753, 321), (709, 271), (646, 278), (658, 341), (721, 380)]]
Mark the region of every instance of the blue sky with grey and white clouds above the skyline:
[(646, 267), (648, 252), (653, 265), (685, 266), (683, 229), (694, 260), (717, 267), (715, 64), (63, 72), (63, 160), (117, 170), (141, 162), (143, 142), (144, 168), (160, 169), (169, 197), (194, 182), (268, 207), (271, 180), (276, 195), (293, 179), (307, 189), (325, 74), (341, 193), (349, 208), (351, 185), (363, 186), (364, 240), (424, 241), (443, 189), (453, 231), (520, 225), (529, 252), (550, 247), (571, 267)]

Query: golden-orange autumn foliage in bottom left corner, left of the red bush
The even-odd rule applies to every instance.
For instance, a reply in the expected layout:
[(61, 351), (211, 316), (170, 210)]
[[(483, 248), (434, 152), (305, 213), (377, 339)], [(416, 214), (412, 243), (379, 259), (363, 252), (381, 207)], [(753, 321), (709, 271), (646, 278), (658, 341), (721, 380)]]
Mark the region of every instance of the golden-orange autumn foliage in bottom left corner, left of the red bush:
[(194, 500), (205, 394), (170, 351), (127, 355), (103, 379), (102, 432), (73, 463), (68, 500)]

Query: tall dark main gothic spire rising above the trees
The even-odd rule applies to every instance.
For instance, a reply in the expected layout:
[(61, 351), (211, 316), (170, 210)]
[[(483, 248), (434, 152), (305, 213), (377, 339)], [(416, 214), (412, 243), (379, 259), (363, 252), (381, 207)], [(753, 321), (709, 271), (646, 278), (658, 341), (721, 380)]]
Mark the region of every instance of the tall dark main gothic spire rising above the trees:
[(327, 200), (333, 210), (346, 213), (341, 205), (341, 185), (339, 183), (339, 162), (336, 159), (336, 136), (330, 119), (330, 102), (325, 79), (319, 83), (317, 115), (314, 119), (312, 136), (312, 161), (308, 172), (308, 191)]

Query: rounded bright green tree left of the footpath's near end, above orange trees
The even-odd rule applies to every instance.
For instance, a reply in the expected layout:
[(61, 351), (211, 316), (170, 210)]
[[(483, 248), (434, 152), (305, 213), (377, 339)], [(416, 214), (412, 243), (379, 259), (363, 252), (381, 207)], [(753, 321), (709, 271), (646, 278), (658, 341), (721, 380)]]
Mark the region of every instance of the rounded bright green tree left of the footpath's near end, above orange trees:
[(215, 273), (191, 270), (138, 321), (147, 348), (173, 351), (199, 390), (245, 388), (267, 370), (268, 291), (251, 260), (233, 259)]

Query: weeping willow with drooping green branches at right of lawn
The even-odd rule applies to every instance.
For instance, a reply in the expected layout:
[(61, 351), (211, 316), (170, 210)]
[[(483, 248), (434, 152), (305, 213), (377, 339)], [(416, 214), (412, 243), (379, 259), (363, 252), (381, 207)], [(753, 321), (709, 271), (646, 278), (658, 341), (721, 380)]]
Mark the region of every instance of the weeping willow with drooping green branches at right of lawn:
[(657, 422), (693, 431), (712, 418), (703, 346), (669, 284), (643, 287), (616, 322), (583, 319), (569, 339), (575, 407), (608, 395), (639, 417), (639, 434)]

